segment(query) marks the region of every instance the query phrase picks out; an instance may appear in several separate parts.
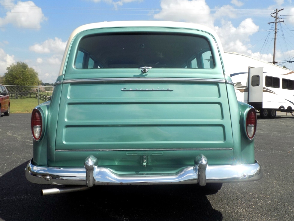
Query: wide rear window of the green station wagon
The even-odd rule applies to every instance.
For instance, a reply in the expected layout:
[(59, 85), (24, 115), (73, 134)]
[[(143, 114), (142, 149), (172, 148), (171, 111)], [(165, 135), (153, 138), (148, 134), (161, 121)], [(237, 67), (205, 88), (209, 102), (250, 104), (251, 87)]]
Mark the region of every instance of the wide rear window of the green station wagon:
[(81, 39), (75, 68), (214, 68), (206, 38), (194, 35), (126, 33)]

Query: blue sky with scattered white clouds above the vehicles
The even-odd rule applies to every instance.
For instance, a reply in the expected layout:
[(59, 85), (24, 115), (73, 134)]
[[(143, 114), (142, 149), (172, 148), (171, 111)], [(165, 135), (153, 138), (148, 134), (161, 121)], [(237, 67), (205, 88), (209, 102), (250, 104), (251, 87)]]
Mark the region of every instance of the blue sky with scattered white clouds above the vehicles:
[[(294, 70), (291, 0), (0, 0), (0, 75), (26, 62), (44, 83), (55, 82), (70, 33), (103, 21), (166, 20), (214, 29), (225, 51), (272, 62), (274, 18), (279, 12), (276, 61)], [(286, 63), (284, 63), (286, 62)]]

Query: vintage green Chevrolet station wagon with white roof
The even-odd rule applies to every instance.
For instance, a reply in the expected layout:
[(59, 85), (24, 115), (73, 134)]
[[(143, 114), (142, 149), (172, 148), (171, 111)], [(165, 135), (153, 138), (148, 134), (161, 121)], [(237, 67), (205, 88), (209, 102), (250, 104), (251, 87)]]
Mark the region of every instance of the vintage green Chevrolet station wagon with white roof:
[[(50, 101), (33, 109), (32, 183), (222, 183), (262, 178), (255, 109), (237, 101), (216, 33), (191, 23), (103, 22), (67, 42)], [(56, 186), (55, 186), (56, 187)]]

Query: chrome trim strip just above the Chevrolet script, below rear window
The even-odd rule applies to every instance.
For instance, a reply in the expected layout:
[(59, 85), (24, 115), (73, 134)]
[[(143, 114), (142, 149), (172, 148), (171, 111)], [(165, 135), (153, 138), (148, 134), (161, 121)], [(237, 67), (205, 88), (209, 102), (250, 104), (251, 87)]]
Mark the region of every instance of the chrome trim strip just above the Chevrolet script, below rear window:
[(150, 82), (187, 82), (187, 83), (196, 83), (196, 82), (205, 82), (205, 83), (225, 83), (224, 79), (213, 79), (213, 78), (85, 78), (85, 79), (69, 79), (55, 82), (55, 84), (70, 84), (70, 83), (117, 83), (117, 82), (141, 82), (141, 81), (150, 81)]

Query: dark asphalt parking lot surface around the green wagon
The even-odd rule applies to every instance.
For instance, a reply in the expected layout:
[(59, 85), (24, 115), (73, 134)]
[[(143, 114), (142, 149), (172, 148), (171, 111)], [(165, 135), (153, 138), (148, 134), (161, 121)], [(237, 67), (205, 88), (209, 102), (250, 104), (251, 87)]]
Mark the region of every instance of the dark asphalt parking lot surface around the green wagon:
[[(279, 114), (279, 113), (278, 113)], [(41, 196), (30, 183), (31, 114), (0, 118), (0, 220), (286, 220), (294, 221), (294, 117), (258, 118), (255, 158), (262, 180), (224, 183), (217, 192), (196, 185), (98, 186)]]

